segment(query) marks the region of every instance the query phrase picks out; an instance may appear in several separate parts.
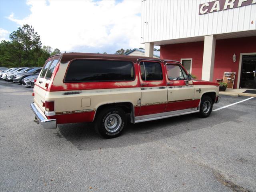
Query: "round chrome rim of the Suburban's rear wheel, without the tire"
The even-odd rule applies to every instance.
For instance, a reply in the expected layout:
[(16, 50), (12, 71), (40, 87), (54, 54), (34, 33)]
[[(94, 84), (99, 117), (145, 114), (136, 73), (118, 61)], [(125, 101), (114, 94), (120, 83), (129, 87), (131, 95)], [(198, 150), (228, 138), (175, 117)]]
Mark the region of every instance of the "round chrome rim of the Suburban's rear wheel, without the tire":
[(107, 116), (104, 122), (105, 129), (110, 133), (117, 132), (120, 129), (121, 124), (122, 124), (122, 118), (120, 117), (120, 115), (116, 113), (113, 113)]

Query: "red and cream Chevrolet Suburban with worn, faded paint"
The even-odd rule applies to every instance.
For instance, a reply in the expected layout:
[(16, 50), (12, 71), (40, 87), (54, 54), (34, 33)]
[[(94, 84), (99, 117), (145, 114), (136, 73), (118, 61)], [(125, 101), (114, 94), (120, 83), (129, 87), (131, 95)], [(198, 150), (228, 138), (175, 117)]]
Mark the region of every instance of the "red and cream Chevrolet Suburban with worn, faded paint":
[(105, 138), (132, 123), (190, 113), (207, 117), (219, 86), (192, 80), (180, 62), (110, 54), (64, 53), (46, 61), (31, 104), (46, 129), (94, 122)]

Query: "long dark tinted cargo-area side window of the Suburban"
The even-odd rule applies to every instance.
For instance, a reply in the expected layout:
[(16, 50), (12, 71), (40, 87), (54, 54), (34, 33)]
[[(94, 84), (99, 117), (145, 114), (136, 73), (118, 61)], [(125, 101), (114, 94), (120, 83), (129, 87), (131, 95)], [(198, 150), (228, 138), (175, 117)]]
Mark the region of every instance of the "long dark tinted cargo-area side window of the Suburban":
[(134, 68), (127, 61), (75, 60), (68, 67), (65, 82), (134, 80)]

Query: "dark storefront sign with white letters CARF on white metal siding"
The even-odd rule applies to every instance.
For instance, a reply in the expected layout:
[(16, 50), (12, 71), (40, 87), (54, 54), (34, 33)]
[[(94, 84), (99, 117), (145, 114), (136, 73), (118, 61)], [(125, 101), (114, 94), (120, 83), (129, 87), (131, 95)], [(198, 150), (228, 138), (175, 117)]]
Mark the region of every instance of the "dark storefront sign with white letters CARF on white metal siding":
[(199, 5), (199, 14), (222, 11), (246, 5), (256, 4), (256, 0), (217, 0)]

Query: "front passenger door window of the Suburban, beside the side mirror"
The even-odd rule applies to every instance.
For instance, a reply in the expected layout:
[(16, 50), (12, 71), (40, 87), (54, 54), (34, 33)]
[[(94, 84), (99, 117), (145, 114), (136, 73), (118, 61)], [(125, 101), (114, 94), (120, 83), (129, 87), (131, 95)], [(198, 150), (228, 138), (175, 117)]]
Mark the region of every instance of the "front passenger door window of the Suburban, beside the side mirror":
[(180, 68), (179, 65), (167, 64), (166, 71), (167, 71), (167, 76), (169, 80), (186, 80), (187, 79), (187, 74), (182, 68)]

